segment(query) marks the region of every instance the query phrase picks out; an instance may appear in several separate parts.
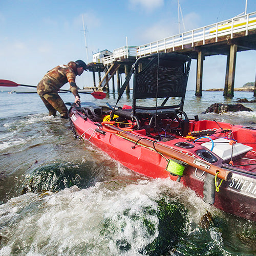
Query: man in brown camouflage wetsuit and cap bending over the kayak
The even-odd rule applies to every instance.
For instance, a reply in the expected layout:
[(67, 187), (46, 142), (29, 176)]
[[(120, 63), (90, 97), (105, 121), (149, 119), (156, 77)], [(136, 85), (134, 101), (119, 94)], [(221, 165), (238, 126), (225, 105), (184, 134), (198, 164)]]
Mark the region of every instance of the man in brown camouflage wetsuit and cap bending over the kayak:
[(68, 119), (68, 109), (59, 97), (59, 89), (67, 82), (70, 84), (70, 91), (75, 96), (75, 103), (80, 103), (80, 96), (75, 82), (76, 75), (80, 76), (87, 65), (82, 60), (70, 61), (68, 65), (59, 65), (48, 71), (37, 84), (37, 94), (49, 110), (49, 115), (56, 115), (58, 111), (61, 118)]

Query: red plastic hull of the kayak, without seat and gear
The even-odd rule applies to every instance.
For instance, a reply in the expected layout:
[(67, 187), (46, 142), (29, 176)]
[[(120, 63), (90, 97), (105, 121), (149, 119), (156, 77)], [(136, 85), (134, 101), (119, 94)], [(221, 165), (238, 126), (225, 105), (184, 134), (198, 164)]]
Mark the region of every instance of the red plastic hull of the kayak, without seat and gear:
[[(215, 183), (215, 176), (209, 175), (203, 172), (199, 168), (186, 165), (183, 175), (174, 176), (168, 172), (167, 164), (168, 158), (159, 154), (154, 148), (142, 146), (140, 142), (134, 142), (126, 139), (122, 136), (122, 133), (116, 134), (113, 132), (105, 131), (102, 129), (102, 125), (99, 122), (94, 122), (89, 119), (79, 108), (71, 108), (69, 110), (69, 117), (71, 126), (76, 136), (83, 140), (89, 140), (96, 145), (102, 151), (107, 153), (111, 158), (117, 160), (125, 167), (133, 170), (136, 173), (145, 175), (150, 178), (170, 178), (172, 180), (179, 180), (184, 186), (191, 188), (196, 194), (204, 198), (207, 201), (207, 195), (214, 194), (214, 205), (229, 214), (236, 215), (251, 221), (256, 221), (256, 176), (255, 165), (249, 167), (245, 166), (241, 171), (238, 168), (233, 168), (232, 178), (230, 180), (223, 180), (220, 186), (220, 191), (215, 191), (216, 187), (212, 187), (208, 191), (205, 187), (206, 178), (210, 182)], [(249, 142), (256, 141), (256, 131), (253, 129), (245, 128), (240, 125), (230, 125), (228, 123), (221, 123), (223, 129), (232, 129), (233, 135), (237, 136), (237, 139), (243, 138), (243, 141), (247, 141), (247, 145), (255, 147), (255, 144)], [(190, 120), (189, 130), (202, 131), (206, 129), (217, 129), (216, 124), (212, 121), (195, 121)], [(145, 131), (129, 131), (129, 133), (135, 134), (146, 138)], [(148, 140), (152, 138), (148, 137)], [(174, 148), (175, 150), (187, 155), (195, 156), (196, 152), (203, 147), (200, 143), (188, 142), (182, 136), (165, 141), (157, 142), (164, 146)], [(177, 143), (179, 146), (177, 146)], [(185, 144), (184, 144), (185, 143)], [(183, 148), (180, 145), (193, 145), (193, 148)], [(253, 148), (254, 149), (254, 148)], [(255, 159), (254, 153), (247, 153), (250, 159)], [(196, 159), (198, 156), (196, 157)], [(237, 160), (242, 161), (240, 159)], [(253, 160), (252, 160), (253, 161)], [(251, 163), (252, 161), (247, 162)], [(254, 160), (255, 161), (255, 160)], [(223, 159), (217, 156), (216, 164), (223, 164)], [(224, 164), (227, 165), (227, 164)], [(250, 168), (250, 169), (249, 169)], [(232, 168), (231, 168), (232, 169)], [(217, 186), (220, 185), (220, 179), (217, 178)], [(214, 184), (215, 185), (215, 184)], [(211, 201), (212, 196), (209, 201)]]

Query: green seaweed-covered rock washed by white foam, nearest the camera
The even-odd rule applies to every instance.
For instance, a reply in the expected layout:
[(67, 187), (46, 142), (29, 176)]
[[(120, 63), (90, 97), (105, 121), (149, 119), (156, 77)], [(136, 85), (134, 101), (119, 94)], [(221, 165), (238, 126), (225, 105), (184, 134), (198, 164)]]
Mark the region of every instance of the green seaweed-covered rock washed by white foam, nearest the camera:
[(165, 255), (185, 233), (187, 212), (179, 202), (162, 198), (156, 203), (157, 206), (142, 206), (136, 211), (126, 208), (114, 218), (105, 218), (101, 236), (114, 244), (120, 254)]

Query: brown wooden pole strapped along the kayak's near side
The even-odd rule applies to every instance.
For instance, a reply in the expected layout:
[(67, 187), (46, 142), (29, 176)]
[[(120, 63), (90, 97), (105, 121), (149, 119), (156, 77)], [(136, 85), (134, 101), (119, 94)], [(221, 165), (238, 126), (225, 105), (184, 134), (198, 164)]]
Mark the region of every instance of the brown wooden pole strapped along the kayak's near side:
[(132, 140), (137, 144), (141, 144), (146, 147), (154, 148), (157, 152), (159, 152), (165, 156), (168, 156), (168, 157), (176, 159), (176, 160), (180, 160), (183, 163), (186, 163), (190, 166), (193, 166), (195, 168), (203, 170), (204, 172), (209, 173), (214, 176), (216, 175), (216, 173), (219, 173), (218, 178), (220, 178), (222, 180), (228, 181), (232, 177), (231, 172), (229, 172), (228, 170), (225, 170), (219, 166), (208, 163), (206, 161), (195, 158), (193, 156), (189, 156), (185, 153), (175, 150), (174, 148), (159, 144), (158, 142), (155, 142), (153, 140), (142, 138), (138, 135), (122, 131), (121, 129), (115, 127), (114, 125), (107, 125), (107, 126), (108, 126), (108, 129), (116, 131), (117, 134), (119, 134), (119, 136), (124, 137), (129, 140)]

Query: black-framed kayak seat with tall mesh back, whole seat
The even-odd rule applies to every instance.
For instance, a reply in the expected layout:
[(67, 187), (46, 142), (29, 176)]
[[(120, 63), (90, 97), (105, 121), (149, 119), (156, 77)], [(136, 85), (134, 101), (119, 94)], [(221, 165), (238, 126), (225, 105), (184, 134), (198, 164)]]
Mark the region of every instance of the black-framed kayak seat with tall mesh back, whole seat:
[[(113, 114), (136, 121), (137, 129), (150, 125), (157, 130), (161, 119), (176, 119), (179, 129), (187, 130), (183, 129), (187, 124), (183, 125), (182, 115), (187, 121), (183, 105), (190, 62), (190, 57), (176, 53), (156, 53), (138, 58), (132, 70), (132, 108), (114, 110)], [(125, 86), (126, 82), (122, 92)]]

